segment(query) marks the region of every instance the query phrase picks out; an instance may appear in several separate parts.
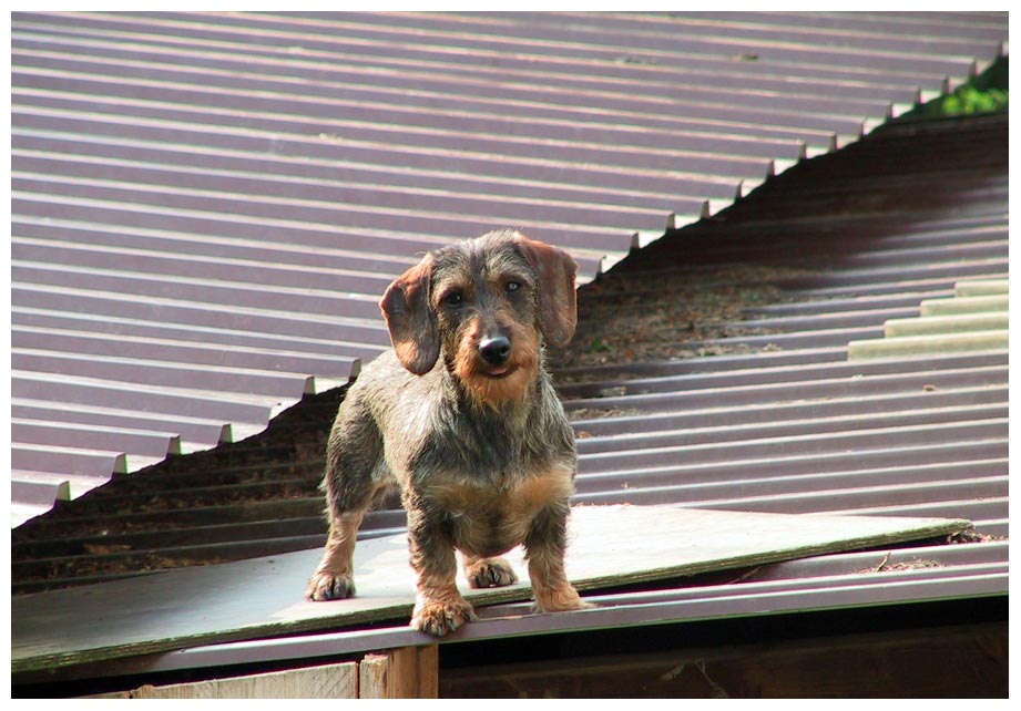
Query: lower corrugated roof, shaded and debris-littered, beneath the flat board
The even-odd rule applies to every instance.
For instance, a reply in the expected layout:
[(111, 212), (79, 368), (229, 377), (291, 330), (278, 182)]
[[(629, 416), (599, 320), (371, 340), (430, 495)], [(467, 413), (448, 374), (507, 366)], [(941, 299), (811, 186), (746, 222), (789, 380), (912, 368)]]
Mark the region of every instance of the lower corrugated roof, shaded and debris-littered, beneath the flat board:
[[(458, 641), (1005, 596), (1007, 351), (857, 361), (847, 346), (882, 340), (886, 321), (952, 298), (963, 281), (1007, 277), (1007, 143), (1005, 115), (907, 123), (807, 162), (582, 288), (578, 339), (551, 353), (579, 435), (576, 503), (966, 517), (976, 524), (971, 540), (610, 590), (593, 596), (599, 609), (575, 615), (522, 616), (522, 606), (498, 606), (481, 610)], [(320, 545), (314, 487), (323, 453), (312, 433), (323, 436), (338, 398), (309, 399), (233, 453), (223, 447), (119, 481), (58, 512), (67, 516), (54, 517), (49, 532), (50, 517), (20, 528), (16, 583), (32, 589), (32, 575), (84, 581), (90, 566), (100, 576), (136, 574), (145, 565)], [(187, 498), (203, 495), (194, 491), (203, 481), (216, 506)], [(213, 482), (224, 486), (213, 492)], [(226, 503), (242, 491), (246, 503)], [(146, 499), (162, 502), (163, 521), (133, 532), (145, 527)], [(377, 512), (366, 535), (402, 523), (398, 508)], [(32, 532), (35, 542), (21, 538)], [(125, 669), (420, 643), (397, 620), (211, 645)]]

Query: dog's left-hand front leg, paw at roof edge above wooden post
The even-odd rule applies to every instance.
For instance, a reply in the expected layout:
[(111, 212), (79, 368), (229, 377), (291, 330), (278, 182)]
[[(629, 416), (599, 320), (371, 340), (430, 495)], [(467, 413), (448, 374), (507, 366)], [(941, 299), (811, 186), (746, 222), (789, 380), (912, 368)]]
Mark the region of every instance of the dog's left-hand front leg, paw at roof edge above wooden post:
[(411, 567), (418, 574), (411, 627), (436, 637), (476, 619), (457, 587), (457, 557), (447, 529), (441, 515), (408, 512)]

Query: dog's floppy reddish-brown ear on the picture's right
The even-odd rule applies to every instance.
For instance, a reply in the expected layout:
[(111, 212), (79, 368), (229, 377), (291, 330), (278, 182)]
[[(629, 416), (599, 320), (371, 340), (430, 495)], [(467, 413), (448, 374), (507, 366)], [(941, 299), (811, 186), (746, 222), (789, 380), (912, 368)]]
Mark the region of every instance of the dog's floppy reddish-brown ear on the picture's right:
[(539, 328), (551, 346), (566, 346), (578, 326), (578, 264), (562, 249), (518, 236), (518, 247), (539, 277)]

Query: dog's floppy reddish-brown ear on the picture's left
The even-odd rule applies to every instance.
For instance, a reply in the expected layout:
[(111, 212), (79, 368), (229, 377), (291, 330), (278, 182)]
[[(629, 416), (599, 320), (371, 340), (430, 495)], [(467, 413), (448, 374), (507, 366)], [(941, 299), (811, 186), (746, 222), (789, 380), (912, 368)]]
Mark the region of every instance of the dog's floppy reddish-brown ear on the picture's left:
[(416, 375), (432, 370), (440, 354), (436, 313), (429, 305), (432, 256), (397, 277), (379, 302), (400, 363)]

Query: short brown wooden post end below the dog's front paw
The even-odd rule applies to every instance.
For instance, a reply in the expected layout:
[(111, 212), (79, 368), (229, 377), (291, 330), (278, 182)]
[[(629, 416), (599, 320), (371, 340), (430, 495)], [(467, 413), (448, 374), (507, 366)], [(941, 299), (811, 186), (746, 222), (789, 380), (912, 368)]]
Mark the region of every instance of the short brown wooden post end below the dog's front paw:
[(436, 699), (439, 695), (439, 647), (402, 647), (367, 655), (358, 664), (360, 699)]

